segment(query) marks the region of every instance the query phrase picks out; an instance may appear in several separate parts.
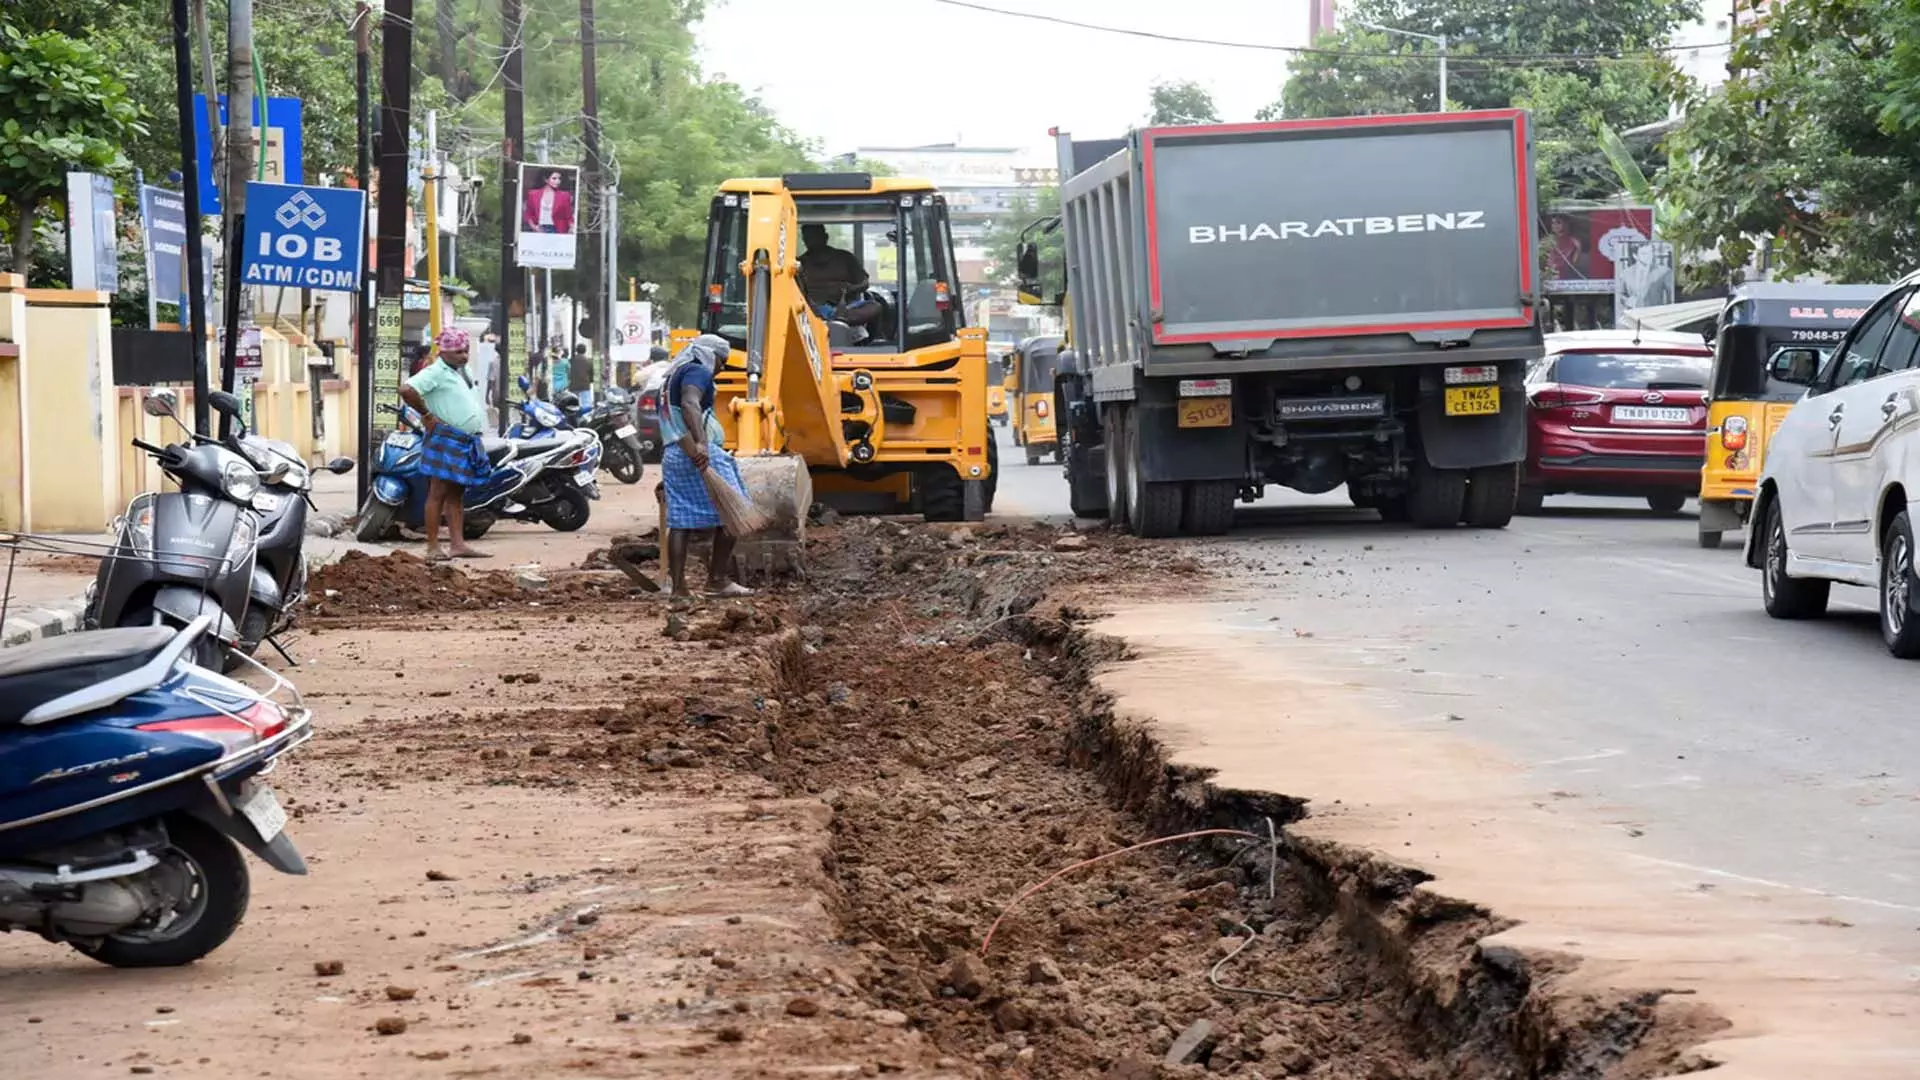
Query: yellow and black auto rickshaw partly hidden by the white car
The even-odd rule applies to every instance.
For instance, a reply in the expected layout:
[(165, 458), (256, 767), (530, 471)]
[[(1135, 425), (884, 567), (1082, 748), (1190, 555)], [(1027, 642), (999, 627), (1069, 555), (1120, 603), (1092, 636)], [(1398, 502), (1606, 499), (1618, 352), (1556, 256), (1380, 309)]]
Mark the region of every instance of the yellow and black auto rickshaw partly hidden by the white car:
[(1766, 442), (1807, 388), (1774, 371), (1818, 371), (1889, 284), (1743, 284), (1720, 311), (1707, 386), (1707, 465), (1699, 475), (1699, 546), (1747, 527)]

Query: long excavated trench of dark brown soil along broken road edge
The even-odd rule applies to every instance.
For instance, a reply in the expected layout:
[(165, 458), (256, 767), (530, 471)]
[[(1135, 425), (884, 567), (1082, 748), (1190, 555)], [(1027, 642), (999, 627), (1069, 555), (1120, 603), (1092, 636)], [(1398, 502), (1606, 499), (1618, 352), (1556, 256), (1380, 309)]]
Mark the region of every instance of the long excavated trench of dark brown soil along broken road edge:
[[(1711, 1068), (1718, 1026), (1657, 992), (1563, 995), (1572, 967), (1478, 942), (1498, 915), (1306, 809), (1167, 763), (1094, 675), (1123, 659), (1050, 592), (1198, 586), (1165, 548), (851, 523), (791, 619), (806, 694), (774, 773), (835, 809), (829, 871), (866, 992), (945, 1053), (1071, 1076), (1640, 1078)], [(1162, 836), (1238, 830), (1069, 867)]]

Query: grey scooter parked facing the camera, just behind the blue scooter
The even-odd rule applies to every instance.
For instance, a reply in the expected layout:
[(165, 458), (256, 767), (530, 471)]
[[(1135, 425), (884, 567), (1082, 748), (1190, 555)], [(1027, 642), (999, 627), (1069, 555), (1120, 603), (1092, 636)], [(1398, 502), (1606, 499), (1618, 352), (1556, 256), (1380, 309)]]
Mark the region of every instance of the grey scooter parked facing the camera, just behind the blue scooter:
[[(238, 423), (240, 402), (232, 394), (215, 390), (207, 405)], [(146, 411), (171, 415), (157, 398), (148, 398)], [(240, 623), (252, 603), (259, 469), (238, 450), (238, 438), (131, 442), (157, 459), (179, 490), (142, 492), (113, 521), (115, 553), (100, 561), (86, 590), (83, 625), (186, 626), (213, 615), (211, 630), (194, 638), (194, 663), (221, 669), (221, 651), (242, 644)]]

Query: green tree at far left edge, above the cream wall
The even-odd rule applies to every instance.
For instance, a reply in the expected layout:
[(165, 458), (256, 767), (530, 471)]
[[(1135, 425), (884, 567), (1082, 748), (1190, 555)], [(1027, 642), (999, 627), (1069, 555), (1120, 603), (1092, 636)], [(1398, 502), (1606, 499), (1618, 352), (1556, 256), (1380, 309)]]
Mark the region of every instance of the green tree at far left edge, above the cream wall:
[(33, 269), (40, 206), (61, 196), (67, 171), (117, 173), (121, 146), (146, 135), (142, 110), (108, 61), (60, 31), (0, 25), (0, 200), (13, 273)]

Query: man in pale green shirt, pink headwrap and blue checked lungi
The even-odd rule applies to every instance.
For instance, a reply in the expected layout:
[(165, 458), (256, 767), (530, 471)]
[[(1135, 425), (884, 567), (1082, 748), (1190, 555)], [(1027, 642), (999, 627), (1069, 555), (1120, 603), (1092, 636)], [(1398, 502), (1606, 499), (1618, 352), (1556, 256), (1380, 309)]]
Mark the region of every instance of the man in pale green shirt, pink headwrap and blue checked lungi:
[[(467, 488), (486, 480), (493, 465), (486, 457), (486, 405), (467, 377), (467, 331), (440, 331), (440, 357), (407, 379), (399, 400), (426, 421), (420, 446), (420, 475), (426, 477), (426, 561), (490, 559), (467, 544)], [(447, 521), (447, 550), (440, 550), (440, 519)]]

